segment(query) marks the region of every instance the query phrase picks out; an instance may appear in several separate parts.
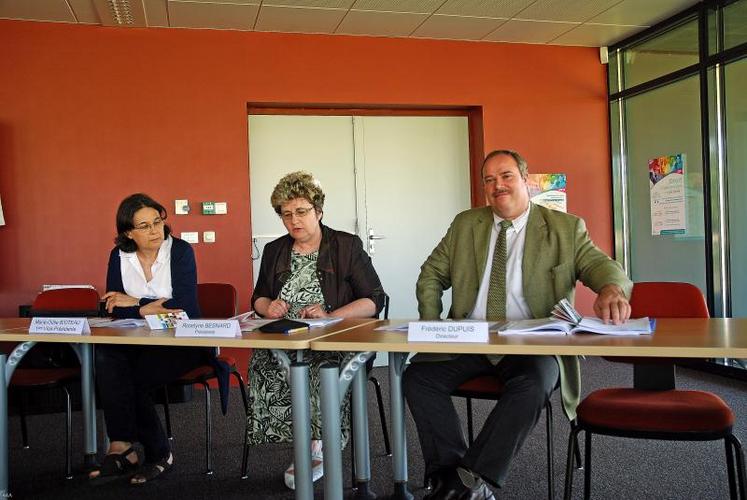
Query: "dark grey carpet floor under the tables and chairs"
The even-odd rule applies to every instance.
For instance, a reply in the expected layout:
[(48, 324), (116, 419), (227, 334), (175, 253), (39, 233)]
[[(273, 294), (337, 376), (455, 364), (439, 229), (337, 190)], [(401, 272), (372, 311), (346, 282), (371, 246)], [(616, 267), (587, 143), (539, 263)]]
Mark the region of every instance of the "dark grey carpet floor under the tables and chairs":
[[(606, 386), (630, 386), (632, 369), (628, 365), (588, 358), (582, 361), (584, 394)], [(388, 401), (388, 381), (385, 368), (374, 369), (381, 382), (385, 402)], [(372, 490), (379, 496), (391, 493), (391, 458), (384, 455), (381, 427), (376, 411), (376, 399), (369, 384), (369, 422), (371, 433)], [(737, 415), (735, 434), (747, 438), (747, 391), (744, 382), (678, 368), (678, 387), (701, 389), (720, 395)], [(217, 398), (214, 398), (217, 399)], [(202, 394), (186, 403), (172, 406), (174, 432), (174, 469), (162, 480), (143, 487), (125, 483), (92, 485), (81, 471), (82, 435), (80, 413), (73, 415), (73, 446), (75, 477), (64, 479), (64, 415), (38, 415), (29, 418), (30, 448), (21, 446), (17, 417), (10, 420), (10, 488), (13, 498), (85, 499), (137, 498), (185, 500), (199, 498), (293, 498), (293, 492), (283, 484), (282, 472), (292, 457), (291, 444), (263, 445), (252, 448), (249, 455), (249, 478), (241, 480), (239, 469), (242, 453), (244, 415), (234, 389), (227, 416), (218, 408), (213, 414), (214, 474), (206, 475)], [(455, 400), (462, 415), (464, 400)], [(474, 403), (478, 426), (492, 407), (491, 402)], [(553, 397), (555, 488), (562, 497), (565, 477), (565, 456), (568, 422), (562, 414), (558, 394)], [(388, 408), (386, 409), (388, 415)], [(466, 424), (465, 424), (466, 425)], [(479, 427), (478, 427), (479, 428)], [(99, 412), (99, 429), (101, 414)], [(421, 498), (423, 463), (415, 427), (408, 416), (409, 487)], [(512, 466), (507, 484), (496, 492), (500, 499), (540, 499), (547, 497), (545, 473), (544, 417), (534, 429)], [(583, 442), (582, 442), (583, 446)], [(592, 497), (598, 499), (716, 499), (728, 498), (726, 462), (722, 442), (665, 442), (595, 437), (593, 455)], [(344, 454), (349, 471), (350, 454)], [(583, 479), (577, 471), (574, 498), (582, 498)], [(352, 496), (349, 472), (345, 475), (346, 496)], [(323, 496), (322, 482), (316, 484), (315, 495)]]

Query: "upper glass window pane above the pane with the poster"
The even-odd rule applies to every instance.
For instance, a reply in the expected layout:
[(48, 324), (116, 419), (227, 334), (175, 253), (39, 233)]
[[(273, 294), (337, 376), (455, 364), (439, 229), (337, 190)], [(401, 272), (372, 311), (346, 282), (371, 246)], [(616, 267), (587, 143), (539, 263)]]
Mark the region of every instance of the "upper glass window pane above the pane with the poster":
[(692, 19), (623, 53), (625, 88), (697, 64), (698, 20)]

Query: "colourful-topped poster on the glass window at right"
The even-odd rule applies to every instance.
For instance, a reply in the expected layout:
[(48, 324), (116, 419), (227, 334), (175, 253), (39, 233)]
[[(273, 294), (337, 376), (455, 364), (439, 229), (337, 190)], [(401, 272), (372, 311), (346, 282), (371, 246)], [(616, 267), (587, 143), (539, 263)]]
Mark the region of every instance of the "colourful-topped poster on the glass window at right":
[(660, 156), (648, 161), (651, 195), (651, 234), (685, 234), (685, 155)]

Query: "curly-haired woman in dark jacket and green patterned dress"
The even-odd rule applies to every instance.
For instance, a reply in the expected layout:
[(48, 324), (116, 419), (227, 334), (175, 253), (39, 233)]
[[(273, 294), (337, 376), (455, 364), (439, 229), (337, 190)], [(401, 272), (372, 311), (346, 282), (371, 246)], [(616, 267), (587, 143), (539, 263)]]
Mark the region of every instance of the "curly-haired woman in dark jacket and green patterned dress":
[[(293, 172), (278, 182), (270, 203), (288, 231), (265, 246), (252, 306), (265, 318), (365, 318), (379, 314), (385, 293), (360, 238), (322, 224), (324, 192), (307, 172)], [(311, 352), (312, 470), (324, 474), (319, 412), (319, 367), (340, 363), (344, 353)], [(292, 440), (290, 388), (266, 350), (249, 365), (248, 441)], [(350, 408), (343, 408), (343, 442), (350, 430)], [(285, 484), (295, 488), (293, 465)]]

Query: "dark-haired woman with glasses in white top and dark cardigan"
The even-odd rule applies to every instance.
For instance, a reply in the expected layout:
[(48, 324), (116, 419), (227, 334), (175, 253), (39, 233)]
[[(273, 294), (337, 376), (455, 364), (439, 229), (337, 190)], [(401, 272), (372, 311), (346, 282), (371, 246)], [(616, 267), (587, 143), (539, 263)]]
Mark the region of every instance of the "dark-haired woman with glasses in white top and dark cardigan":
[[(199, 318), (197, 267), (189, 243), (171, 236), (166, 210), (149, 196), (125, 198), (117, 210), (115, 248), (106, 274), (106, 310), (115, 318), (185, 311)], [(215, 361), (198, 347), (96, 346), (96, 382), (110, 444), (91, 479), (133, 474), (143, 484), (173, 463), (169, 442), (150, 393), (188, 371)], [(138, 466), (133, 443), (142, 444)]]

